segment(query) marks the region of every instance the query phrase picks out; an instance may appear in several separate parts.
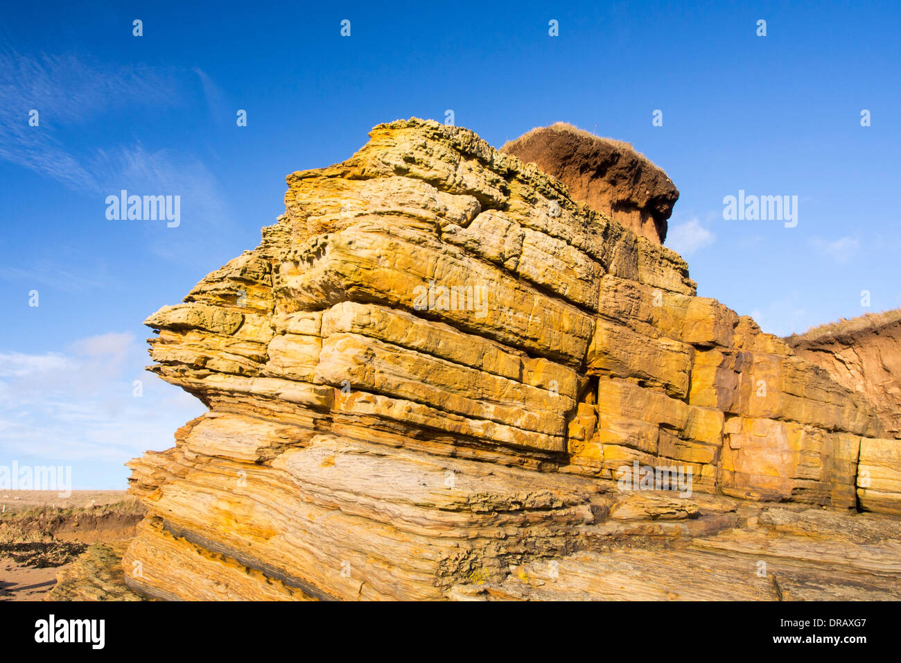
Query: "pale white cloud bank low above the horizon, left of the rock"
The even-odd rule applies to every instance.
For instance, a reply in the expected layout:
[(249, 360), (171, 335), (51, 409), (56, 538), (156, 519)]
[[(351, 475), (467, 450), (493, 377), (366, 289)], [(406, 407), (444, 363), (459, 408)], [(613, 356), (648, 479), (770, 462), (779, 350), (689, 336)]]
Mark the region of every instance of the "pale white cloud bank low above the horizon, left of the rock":
[(3, 456), (72, 463), (77, 474), (86, 467), (79, 464), (119, 464), (171, 447), (172, 431), (205, 408), (142, 371), (143, 355), (135, 337), (122, 332), (79, 339), (57, 352), (0, 353)]

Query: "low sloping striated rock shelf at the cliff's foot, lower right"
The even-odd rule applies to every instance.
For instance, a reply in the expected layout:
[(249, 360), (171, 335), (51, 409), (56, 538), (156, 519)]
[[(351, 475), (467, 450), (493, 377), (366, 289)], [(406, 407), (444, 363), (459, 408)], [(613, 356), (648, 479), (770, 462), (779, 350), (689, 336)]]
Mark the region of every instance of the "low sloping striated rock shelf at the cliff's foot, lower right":
[(671, 548), (583, 550), (512, 566), (500, 582), (451, 590), (463, 601), (896, 601), (896, 520), (769, 508)]

